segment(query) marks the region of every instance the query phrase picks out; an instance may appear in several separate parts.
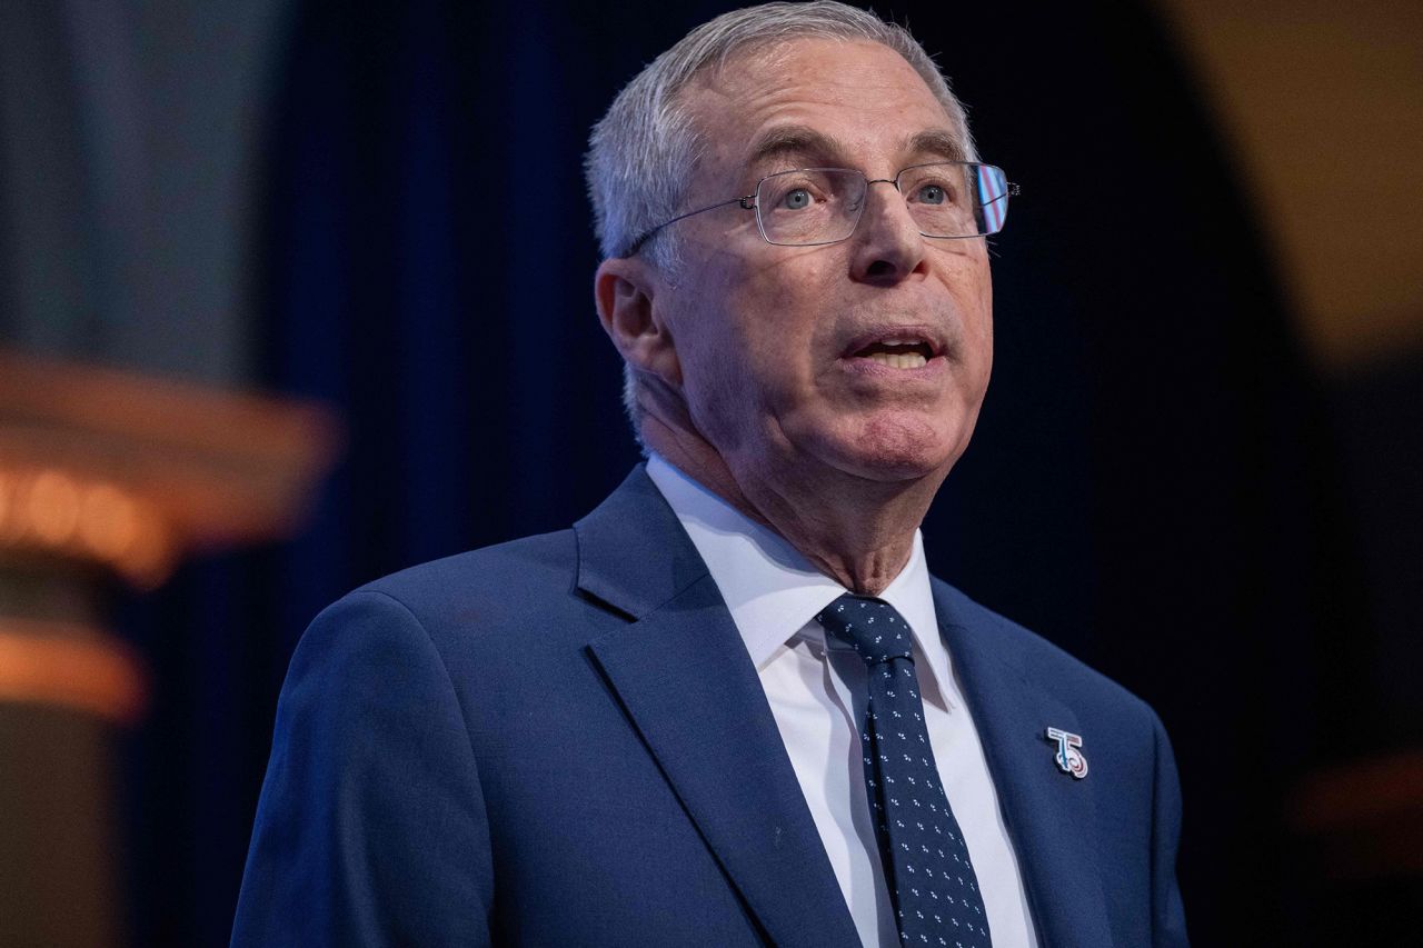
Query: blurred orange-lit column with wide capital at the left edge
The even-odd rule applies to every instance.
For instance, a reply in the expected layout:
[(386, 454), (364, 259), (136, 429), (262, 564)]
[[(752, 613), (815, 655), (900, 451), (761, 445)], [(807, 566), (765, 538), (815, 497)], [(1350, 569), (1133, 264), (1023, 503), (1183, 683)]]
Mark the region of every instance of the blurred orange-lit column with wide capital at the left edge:
[(121, 942), (110, 736), (147, 672), (104, 582), (289, 534), (337, 440), (313, 406), (0, 350), (0, 944)]

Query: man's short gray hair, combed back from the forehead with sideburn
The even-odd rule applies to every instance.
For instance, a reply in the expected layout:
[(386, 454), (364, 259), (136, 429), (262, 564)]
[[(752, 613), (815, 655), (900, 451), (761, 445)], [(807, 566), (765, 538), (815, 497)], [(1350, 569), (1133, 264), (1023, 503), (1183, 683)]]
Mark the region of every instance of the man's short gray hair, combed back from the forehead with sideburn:
[[(835, 0), (733, 10), (703, 23), (646, 65), (593, 125), (583, 171), (605, 258), (625, 256), (638, 238), (682, 212), (689, 169), (703, 149), (693, 115), (682, 101), (692, 81), (733, 56), (800, 38), (879, 43), (902, 56), (943, 105), (963, 154), (976, 161), (963, 105), (902, 26)], [(645, 246), (655, 266), (676, 272), (680, 260), (673, 233), (662, 231)], [(623, 380), (623, 406), (640, 441), (639, 383), (630, 366), (625, 366)]]

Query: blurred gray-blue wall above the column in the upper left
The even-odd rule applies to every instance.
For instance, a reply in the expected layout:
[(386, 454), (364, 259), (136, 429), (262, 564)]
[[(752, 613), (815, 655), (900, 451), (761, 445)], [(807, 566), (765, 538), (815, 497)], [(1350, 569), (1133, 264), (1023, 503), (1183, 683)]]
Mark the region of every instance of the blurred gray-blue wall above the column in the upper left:
[(250, 380), (259, 142), (290, 7), (0, 4), (0, 342)]

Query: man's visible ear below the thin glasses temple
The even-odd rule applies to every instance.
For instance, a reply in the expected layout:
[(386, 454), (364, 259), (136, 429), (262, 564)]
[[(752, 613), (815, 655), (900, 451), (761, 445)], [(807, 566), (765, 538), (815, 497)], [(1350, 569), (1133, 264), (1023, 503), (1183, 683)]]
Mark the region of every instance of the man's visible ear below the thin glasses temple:
[(682, 387), (682, 363), (672, 332), (653, 306), (660, 282), (638, 258), (610, 258), (593, 276), (593, 302), (603, 330), (636, 372)]

